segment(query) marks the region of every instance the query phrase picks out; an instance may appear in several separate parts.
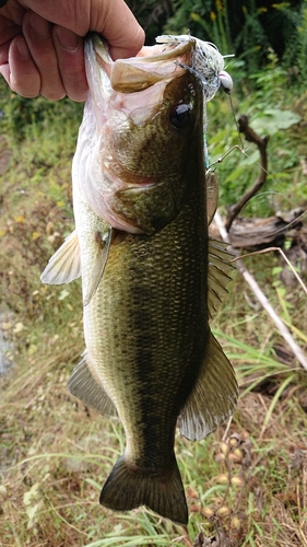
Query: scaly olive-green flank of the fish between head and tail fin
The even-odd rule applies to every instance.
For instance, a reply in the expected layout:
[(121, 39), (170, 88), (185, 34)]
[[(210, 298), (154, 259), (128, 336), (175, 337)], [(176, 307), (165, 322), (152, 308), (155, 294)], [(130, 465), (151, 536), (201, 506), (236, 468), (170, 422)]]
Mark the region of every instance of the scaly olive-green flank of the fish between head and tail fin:
[[(198, 199), (192, 191), (202, 179), (197, 141), (188, 194), (199, 203), (198, 214), (187, 202), (157, 234), (128, 235), (111, 246), (102, 283), (84, 310), (91, 364), (105, 379), (123, 424), (130, 466), (153, 475), (164, 475), (175, 462), (177, 416), (198, 375), (209, 330), (204, 195), (202, 187)], [(103, 334), (94, 341), (93, 322)]]

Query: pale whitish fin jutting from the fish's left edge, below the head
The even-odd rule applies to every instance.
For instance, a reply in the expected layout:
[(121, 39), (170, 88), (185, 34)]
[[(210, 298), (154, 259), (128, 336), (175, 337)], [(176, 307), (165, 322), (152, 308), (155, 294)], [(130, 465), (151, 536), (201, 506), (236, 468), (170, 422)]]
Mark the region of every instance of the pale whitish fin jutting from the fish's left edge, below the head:
[(47, 284), (70, 283), (81, 276), (80, 247), (75, 230), (49, 259), (40, 279)]

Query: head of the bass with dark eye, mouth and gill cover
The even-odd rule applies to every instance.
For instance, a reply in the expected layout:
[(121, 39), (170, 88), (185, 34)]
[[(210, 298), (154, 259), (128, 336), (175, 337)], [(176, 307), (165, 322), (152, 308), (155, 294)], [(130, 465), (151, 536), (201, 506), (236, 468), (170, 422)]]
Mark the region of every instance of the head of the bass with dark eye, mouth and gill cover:
[(180, 211), (191, 148), (202, 147), (202, 91), (188, 70), (194, 48), (187, 36), (113, 61), (98, 35), (86, 40), (94, 168), (80, 184), (114, 228), (152, 234)]

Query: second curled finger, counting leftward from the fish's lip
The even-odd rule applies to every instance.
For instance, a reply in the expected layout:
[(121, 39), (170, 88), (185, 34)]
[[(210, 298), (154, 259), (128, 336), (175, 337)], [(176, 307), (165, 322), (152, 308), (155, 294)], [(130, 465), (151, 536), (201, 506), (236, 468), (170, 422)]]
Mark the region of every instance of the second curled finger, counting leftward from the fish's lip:
[(40, 94), (58, 101), (66, 96), (66, 92), (59, 74), (51, 28), (51, 23), (32, 11), (24, 16), (23, 34), (40, 74)]

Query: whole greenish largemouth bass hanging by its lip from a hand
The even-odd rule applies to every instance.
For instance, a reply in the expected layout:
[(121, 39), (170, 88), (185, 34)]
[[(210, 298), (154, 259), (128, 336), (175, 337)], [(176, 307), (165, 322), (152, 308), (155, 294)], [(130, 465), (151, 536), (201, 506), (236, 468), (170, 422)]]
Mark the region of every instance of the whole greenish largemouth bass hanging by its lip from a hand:
[(204, 167), (205, 101), (220, 86), (223, 58), (192, 36), (166, 36), (113, 61), (91, 34), (85, 66), (75, 230), (42, 280), (82, 278), (86, 349), (68, 387), (123, 426), (126, 449), (101, 504), (145, 505), (186, 525), (176, 427), (203, 439), (232, 416), (238, 391), (210, 328), (233, 269), (225, 244), (208, 235), (217, 186), (210, 179), (206, 188)]

